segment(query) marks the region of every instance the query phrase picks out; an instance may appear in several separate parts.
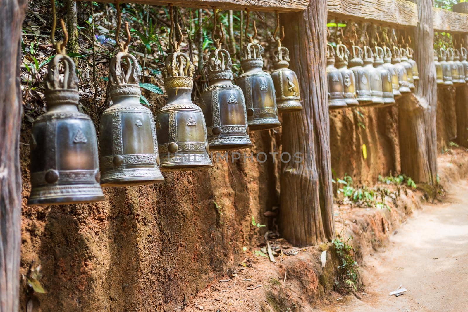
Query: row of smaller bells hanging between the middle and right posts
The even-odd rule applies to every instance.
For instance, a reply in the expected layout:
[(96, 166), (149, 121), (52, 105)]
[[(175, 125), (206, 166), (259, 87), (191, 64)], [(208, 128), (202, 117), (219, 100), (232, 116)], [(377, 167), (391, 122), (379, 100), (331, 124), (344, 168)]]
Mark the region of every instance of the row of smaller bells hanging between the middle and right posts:
[[(416, 61), (411, 48), (356, 45), (350, 51), (337, 44), (336, 51), (327, 45), (327, 76), (329, 109), (354, 106), (386, 107), (395, 99), (414, 90), (419, 80)], [(348, 62), (349, 60), (349, 62)], [(335, 66), (336, 62), (336, 66)]]

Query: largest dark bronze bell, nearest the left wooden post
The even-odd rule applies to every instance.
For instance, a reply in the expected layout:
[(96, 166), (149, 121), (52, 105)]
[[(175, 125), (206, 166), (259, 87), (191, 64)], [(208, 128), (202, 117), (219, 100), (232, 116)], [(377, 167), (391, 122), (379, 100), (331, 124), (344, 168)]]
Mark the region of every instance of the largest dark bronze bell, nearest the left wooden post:
[(91, 118), (78, 111), (80, 95), (73, 60), (65, 54), (54, 56), (45, 81), (49, 109), (32, 126), (28, 205), (102, 201), (96, 131)]

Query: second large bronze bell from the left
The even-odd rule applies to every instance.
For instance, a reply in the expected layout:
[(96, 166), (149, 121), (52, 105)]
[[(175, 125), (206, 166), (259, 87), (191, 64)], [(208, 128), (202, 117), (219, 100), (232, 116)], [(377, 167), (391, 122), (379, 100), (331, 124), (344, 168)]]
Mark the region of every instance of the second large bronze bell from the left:
[[(121, 61), (126, 61), (127, 72)], [(119, 52), (110, 60), (110, 98), (99, 127), (101, 185), (131, 186), (164, 181), (151, 110), (139, 102), (141, 72), (137, 59)]]

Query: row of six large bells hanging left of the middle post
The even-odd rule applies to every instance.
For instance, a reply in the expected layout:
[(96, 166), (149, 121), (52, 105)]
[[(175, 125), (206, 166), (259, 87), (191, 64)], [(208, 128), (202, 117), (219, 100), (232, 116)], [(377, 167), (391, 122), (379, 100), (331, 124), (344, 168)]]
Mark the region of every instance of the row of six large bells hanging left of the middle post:
[(244, 73), (234, 85), (229, 52), (221, 48), (212, 52), (210, 85), (199, 106), (191, 101), (193, 64), (180, 51), (169, 55), (164, 66), (168, 102), (156, 121), (139, 103), (141, 72), (136, 58), (117, 53), (110, 61), (113, 105), (101, 117), (99, 157), (94, 124), (77, 108), (75, 64), (66, 55), (56, 55), (45, 79), (48, 111), (32, 127), (28, 204), (102, 201), (101, 186), (158, 183), (164, 181), (161, 171), (213, 167), (210, 149), (247, 148), (252, 145), (249, 130), (276, 128), (281, 125), (278, 112), (302, 109), (298, 79), (288, 68), (285, 47), (278, 47), (271, 74), (262, 69), (262, 46), (249, 43), (242, 53)]

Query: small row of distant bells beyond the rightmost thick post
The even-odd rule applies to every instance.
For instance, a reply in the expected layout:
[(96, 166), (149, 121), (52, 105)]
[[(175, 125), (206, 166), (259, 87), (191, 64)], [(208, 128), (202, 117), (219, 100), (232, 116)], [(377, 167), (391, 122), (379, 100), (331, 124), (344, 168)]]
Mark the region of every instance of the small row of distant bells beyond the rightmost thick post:
[(434, 64), (436, 67), (437, 85), (450, 87), (468, 82), (467, 50), (447, 48), (434, 50)]

